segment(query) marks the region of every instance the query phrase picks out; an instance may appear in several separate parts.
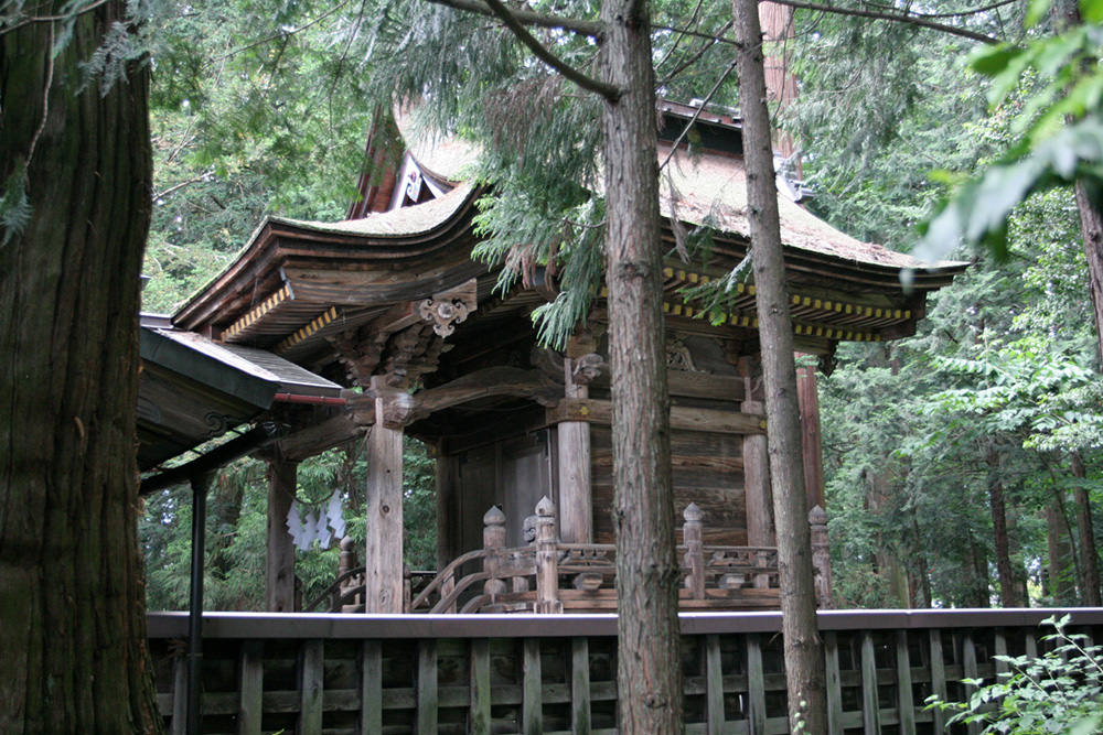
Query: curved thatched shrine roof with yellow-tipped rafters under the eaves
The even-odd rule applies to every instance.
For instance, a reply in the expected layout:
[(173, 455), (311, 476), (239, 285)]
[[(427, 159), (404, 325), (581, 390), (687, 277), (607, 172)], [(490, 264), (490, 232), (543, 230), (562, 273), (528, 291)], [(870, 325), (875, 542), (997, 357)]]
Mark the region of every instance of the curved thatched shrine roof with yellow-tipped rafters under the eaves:
[[(362, 219), (266, 217), (237, 258), (176, 312), (175, 326), (206, 329), (225, 342), (293, 357), (308, 343), (317, 347), (321, 337), (355, 329), (387, 309), (405, 304), (408, 312), (414, 302), (471, 279), (478, 280), (471, 287), (478, 303), (491, 299), (494, 274), (470, 259), (478, 241), (474, 202), (483, 190), (458, 181), (470, 171), (478, 149), (456, 139), (426, 142), (405, 127), (405, 139), (414, 141), (408, 149), (413, 162), (437, 181), (456, 182), (451, 191)], [(667, 145), (661, 158), (668, 152)], [(695, 312), (682, 301), (681, 287), (717, 278), (749, 249), (746, 175), (739, 158), (690, 155), (684, 149), (671, 158), (667, 169), (661, 184), (667, 241), (673, 240), (670, 220), (675, 217), (716, 231), (711, 269), (675, 261), (666, 269), (667, 312), (693, 316), (700, 310)], [(793, 318), (803, 320), (797, 334), (803, 329), (823, 344), (910, 333), (922, 314), (924, 294), (946, 285), (966, 267), (962, 262), (927, 267), (911, 256), (849, 237), (784, 195), (778, 201)], [(910, 292), (900, 283), (904, 269), (914, 269)], [(728, 323), (754, 328), (754, 288), (746, 287), (745, 293), (740, 285), (739, 293), (741, 300), (732, 304)], [(526, 309), (543, 300), (536, 292), (511, 299)]]

